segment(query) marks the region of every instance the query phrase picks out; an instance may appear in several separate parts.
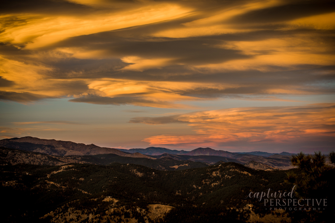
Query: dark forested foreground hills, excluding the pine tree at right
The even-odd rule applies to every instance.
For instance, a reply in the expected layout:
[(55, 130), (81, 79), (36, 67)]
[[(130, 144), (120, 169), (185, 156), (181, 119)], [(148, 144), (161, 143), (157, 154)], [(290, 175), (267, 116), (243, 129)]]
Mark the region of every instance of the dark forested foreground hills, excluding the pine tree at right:
[(289, 190), (290, 185), (282, 185), (285, 174), (253, 170), (238, 163), (177, 171), (119, 163), (4, 165), (1, 191), (10, 197), (4, 201), (3, 219), (60, 222), (68, 217), (69, 222), (152, 222), (155, 219), (149, 217), (148, 205), (156, 204), (174, 207), (162, 222), (173, 221), (174, 215), (190, 218), (192, 212), (199, 219), (247, 220), (251, 214), (247, 204), (254, 204), (257, 213), (267, 213), (259, 202), (246, 199), (249, 191)]

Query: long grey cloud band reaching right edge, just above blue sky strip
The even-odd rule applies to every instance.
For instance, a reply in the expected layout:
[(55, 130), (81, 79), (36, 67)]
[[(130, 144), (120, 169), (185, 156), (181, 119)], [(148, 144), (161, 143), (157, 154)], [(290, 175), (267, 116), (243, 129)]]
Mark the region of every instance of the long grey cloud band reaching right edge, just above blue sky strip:
[[(326, 73), (316, 75), (316, 73)], [(172, 75), (169, 75), (172, 74)], [(115, 78), (129, 78), (150, 81), (192, 81), (197, 83), (227, 84), (224, 89), (217, 87), (196, 87), (176, 91), (181, 95), (195, 97), (220, 97), (224, 95), (236, 94), (265, 94), (268, 89), (296, 89), (306, 93), (334, 93), (335, 67), (318, 67), (313, 69), (302, 69), (294, 71), (261, 72), (261, 71), (235, 71), (222, 73), (207, 73), (204, 75), (200, 71), (190, 72), (187, 67), (166, 67), (162, 69), (152, 69), (145, 73), (126, 71), (111, 74)], [(229, 84), (233, 84), (229, 86)], [(236, 86), (242, 85), (242, 86)]]

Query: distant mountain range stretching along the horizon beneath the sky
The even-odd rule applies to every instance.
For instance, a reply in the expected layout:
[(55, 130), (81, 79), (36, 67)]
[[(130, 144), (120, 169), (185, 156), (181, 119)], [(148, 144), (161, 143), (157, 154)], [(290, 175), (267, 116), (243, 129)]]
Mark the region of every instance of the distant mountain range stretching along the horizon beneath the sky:
[[(266, 152), (234, 153), (223, 150), (214, 150), (208, 147), (197, 148), (192, 151), (171, 150), (162, 147), (126, 150), (99, 147), (94, 144), (85, 145), (83, 143), (74, 143), (71, 141), (39, 139), (35, 137), (3, 139), (0, 140), (0, 146), (10, 149), (42, 153), (50, 156), (60, 156), (63, 161), (65, 158), (69, 159), (69, 161), (64, 161), (65, 163), (77, 162), (74, 160), (103, 165), (112, 162), (120, 162), (140, 164), (156, 169), (171, 170), (213, 165), (219, 161), (236, 162), (240, 164), (254, 161), (265, 165), (265, 167), (260, 169), (289, 169), (293, 167), (291, 166), (292, 154), (285, 152), (280, 154)], [(60, 158), (57, 159), (59, 160)], [(59, 161), (56, 161), (56, 163), (57, 162)], [(255, 168), (257, 166), (257, 168), (259, 168), (260, 165), (252, 166), (255, 166)]]

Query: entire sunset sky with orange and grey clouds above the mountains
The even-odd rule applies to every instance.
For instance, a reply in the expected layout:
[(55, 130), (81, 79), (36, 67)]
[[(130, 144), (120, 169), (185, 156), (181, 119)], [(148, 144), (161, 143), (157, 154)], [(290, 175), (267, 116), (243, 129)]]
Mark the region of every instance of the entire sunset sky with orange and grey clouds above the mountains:
[(333, 0), (4, 0), (0, 139), (328, 153)]

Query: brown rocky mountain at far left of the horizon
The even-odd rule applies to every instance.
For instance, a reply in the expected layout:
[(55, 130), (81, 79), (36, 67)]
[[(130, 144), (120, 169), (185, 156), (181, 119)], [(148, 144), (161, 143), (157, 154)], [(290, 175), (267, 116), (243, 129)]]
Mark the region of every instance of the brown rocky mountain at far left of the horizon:
[(127, 155), (117, 149), (102, 148), (94, 144), (85, 145), (83, 143), (74, 143), (70, 141), (60, 141), (54, 139), (39, 139), (35, 137), (22, 137), (0, 140), (0, 146), (40, 152), (48, 155), (67, 156), (67, 155), (95, 155), (113, 153), (119, 156)]

